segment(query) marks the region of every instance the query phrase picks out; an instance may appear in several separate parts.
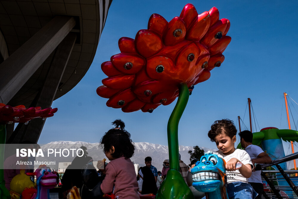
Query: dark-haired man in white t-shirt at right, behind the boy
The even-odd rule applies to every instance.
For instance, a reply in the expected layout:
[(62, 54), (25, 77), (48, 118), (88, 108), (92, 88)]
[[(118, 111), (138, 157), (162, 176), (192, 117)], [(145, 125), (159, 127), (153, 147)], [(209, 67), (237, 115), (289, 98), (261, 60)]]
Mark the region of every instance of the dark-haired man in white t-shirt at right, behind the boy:
[[(240, 143), (242, 148), (246, 150), (252, 159), (252, 164), (265, 164), (270, 163), (272, 160), (267, 153), (265, 153), (261, 147), (252, 144), (253, 134), (252, 132), (245, 130), (239, 133)], [(254, 171), (250, 178), (248, 178), (249, 184), (252, 185), (254, 190), (259, 194), (256, 199), (261, 199), (263, 193), (263, 182), (261, 180), (261, 171)]]

